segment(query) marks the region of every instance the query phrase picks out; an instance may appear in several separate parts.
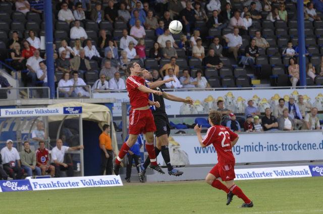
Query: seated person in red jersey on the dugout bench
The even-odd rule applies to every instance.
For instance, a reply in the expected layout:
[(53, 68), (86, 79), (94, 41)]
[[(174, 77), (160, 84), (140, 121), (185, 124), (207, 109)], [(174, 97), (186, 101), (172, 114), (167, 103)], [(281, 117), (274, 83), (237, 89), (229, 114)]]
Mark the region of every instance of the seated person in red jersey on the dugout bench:
[(55, 176), (55, 167), (49, 164), (49, 151), (45, 148), (43, 140), (39, 141), (39, 148), (36, 150), (36, 163), (41, 170), (41, 175), (49, 172), (51, 177)]

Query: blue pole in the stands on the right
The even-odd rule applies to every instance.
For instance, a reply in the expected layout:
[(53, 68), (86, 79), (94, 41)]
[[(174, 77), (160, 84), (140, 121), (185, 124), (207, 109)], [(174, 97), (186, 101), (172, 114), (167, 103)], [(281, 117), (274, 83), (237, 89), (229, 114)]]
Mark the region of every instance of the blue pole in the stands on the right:
[(306, 60), (305, 60), (305, 31), (304, 31), (304, 1), (297, 0), (297, 30), (298, 30), (298, 59), (300, 85), (306, 86)]

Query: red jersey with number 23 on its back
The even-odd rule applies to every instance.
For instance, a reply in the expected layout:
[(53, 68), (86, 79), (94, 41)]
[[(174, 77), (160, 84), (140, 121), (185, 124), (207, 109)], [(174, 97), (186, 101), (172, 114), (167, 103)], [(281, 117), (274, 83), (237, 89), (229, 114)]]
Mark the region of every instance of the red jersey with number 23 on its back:
[(214, 125), (208, 128), (206, 135), (202, 139), (202, 144), (206, 147), (213, 144), (218, 154), (219, 164), (234, 164), (235, 158), (232, 153), (231, 141), (237, 137), (238, 134), (231, 131), (230, 128), (222, 125)]

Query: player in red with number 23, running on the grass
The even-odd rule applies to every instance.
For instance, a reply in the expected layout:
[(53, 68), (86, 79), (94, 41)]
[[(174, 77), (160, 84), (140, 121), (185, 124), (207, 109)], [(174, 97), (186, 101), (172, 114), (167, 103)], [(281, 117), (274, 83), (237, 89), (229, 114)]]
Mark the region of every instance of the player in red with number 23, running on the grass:
[[(227, 193), (227, 205), (230, 204), (233, 196), (237, 195), (244, 201), (242, 207), (252, 207), (252, 201), (234, 184), (236, 174), (234, 173), (235, 158), (232, 153), (232, 147), (238, 141), (238, 134), (231, 131), (230, 128), (220, 125), (221, 118), (221, 112), (210, 111), (208, 122), (211, 127), (208, 128), (204, 138), (201, 136), (202, 126), (199, 127), (196, 124), (194, 127), (201, 147), (207, 147), (212, 144), (218, 154), (218, 164), (207, 174), (205, 181), (212, 187)], [(221, 178), (226, 185), (220, 182), (218, 178)]]

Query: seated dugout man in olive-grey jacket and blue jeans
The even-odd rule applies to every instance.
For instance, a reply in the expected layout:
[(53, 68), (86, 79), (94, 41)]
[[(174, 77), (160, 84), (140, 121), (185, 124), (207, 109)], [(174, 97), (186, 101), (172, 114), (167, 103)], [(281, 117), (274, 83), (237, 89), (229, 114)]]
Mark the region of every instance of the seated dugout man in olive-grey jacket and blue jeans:
[(24, 150), (20, 153), (21, 168), (27, 173), (28, 177), (32, 176), (35, 172), (36, 175), (41, 175), (41, 170), (36, 166), (36, 155), (35, 152), (30, 149), (30, 144), (28, 141), (24, 142)]

